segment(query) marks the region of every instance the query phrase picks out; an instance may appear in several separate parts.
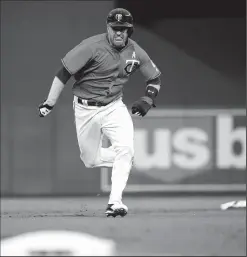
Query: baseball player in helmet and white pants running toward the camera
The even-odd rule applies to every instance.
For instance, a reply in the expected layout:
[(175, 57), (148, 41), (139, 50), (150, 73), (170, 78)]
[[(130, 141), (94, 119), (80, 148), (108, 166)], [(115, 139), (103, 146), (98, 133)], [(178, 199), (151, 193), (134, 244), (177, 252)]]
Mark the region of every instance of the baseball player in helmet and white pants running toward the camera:
[[(132, 39), (131, 13), (117, 8), (107, 16), (107, 32), (83, 40), (62, 59), (47, 99), (39, 105), (40, 117), (48, 115), (64, 85), (74, 77), (73, 109), (80, 158), (88, 168), (112, 167), (111, 193), (106, 216), (125, 216), (122, 202), (134, 157), (134, 128), (122, 101), (123, 87), (140, 69), (146, 81), (143, 96), (133, 103), (132, 114), (145, 116), (155, 107), (160, 71), (148, 54)], [(111, 145), (102, 147), (105, 135)]]

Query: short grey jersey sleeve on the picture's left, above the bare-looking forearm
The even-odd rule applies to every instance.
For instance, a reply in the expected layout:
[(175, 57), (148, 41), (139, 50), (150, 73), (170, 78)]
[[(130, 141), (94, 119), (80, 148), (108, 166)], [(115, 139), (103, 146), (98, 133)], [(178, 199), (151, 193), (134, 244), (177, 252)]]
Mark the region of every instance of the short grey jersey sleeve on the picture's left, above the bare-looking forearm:
[(88, 44), (83, 42), (69, 51), (61, 59), (63, 66), (71, 75), (83, 68), (93, 58), (93, 50)]

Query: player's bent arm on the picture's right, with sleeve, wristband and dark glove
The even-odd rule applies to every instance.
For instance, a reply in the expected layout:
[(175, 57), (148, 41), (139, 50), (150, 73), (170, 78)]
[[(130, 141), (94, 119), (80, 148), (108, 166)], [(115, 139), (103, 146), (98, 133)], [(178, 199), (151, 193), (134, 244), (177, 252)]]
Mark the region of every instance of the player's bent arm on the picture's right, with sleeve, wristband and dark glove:
[(155, 101), (161, 86), (161, 72), (143, 49), (138, 50), (140, 71), (146, 80), (146, 89), (145, 96), (133, 104), (132, 113), (145, 116), (151, 107), (156, 107)]

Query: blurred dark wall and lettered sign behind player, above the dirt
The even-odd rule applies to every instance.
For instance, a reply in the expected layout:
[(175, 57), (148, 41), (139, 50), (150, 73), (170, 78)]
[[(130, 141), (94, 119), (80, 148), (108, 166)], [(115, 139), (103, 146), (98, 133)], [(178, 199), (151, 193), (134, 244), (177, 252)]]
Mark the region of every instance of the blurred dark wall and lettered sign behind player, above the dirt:
[[(221, 2), (222, 4), (216, 4)], [(80, 161), (70, 81), (45, 119), (60, 60), (128, 9), (133, 39), (162, 72), (157, 108), (134, 118), (126, 193), (246, 192), (245, 1), (1, 1), (1, 195), (109, 192), (110, 170)], [(145, 92), (125, 86), (128, 107)]]

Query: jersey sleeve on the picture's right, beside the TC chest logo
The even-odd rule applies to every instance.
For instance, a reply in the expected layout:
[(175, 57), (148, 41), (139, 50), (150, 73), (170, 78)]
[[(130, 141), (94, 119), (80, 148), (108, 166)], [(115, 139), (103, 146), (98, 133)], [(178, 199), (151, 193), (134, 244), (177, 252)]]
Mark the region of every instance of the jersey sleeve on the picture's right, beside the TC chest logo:
[(139, 52), (138, 56), (140, 59), (140, 71), (144, 76), (145, 80), (152, 80), (160, 76), (160, 70), (153, 63), (153, 61), (150, 59), (145, 50), (143, 50), (141, 47), (138, 47), (137, 51)]

